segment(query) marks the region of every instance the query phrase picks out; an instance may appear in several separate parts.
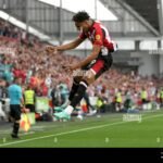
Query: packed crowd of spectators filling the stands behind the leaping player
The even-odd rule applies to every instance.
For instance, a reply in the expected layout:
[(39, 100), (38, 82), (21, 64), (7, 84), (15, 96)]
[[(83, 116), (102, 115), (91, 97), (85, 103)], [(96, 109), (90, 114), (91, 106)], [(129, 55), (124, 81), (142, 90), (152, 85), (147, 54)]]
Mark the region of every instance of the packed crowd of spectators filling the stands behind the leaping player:
[[(1, 99), (3, 98), (2, 89), (8, 87), (15, 77), (22, 78), (23, 90), (29, 86), (37, 97), (52, 99), (50, 91), (58, 90), (61, 83), (66, 85), (66, 93), (68, 93), (72, 77), (64, 72), (62, 65), (78, 62), (80, 59), (64, 53), (47, 54), (45, 51), (47, 45), (37, 37), (27, 35), (26, 32), (0, 20)], [(131, 101), (136, 108), (148, 101), (163, 104), (162, 87), (162, 78), (142, 77), (134, 71), (123, 73), (112, 67), (88, 88), (87, 93), (89, 97), (98, 97), (99, 108), (112, 103), (115, 111), (122, 111), (127, 100)], [(58, 104), (63, 103), (60, 101)]]

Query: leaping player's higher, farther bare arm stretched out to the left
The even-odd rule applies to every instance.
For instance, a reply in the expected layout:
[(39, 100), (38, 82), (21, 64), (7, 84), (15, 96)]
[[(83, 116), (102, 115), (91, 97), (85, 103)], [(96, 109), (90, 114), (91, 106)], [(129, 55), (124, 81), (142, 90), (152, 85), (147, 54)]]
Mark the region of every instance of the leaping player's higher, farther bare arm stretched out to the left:
[(84, 41), (83, 39), (76, 38), (75, 40), (71, 41), (70, 43), (61, 45), (61, 46), (58, 46), (58, 47), (47, 46), (46, 51), (48, 53), (57, 53), (58, 51), (65, 51), (65, 50), (75, 49), (83, 41)]

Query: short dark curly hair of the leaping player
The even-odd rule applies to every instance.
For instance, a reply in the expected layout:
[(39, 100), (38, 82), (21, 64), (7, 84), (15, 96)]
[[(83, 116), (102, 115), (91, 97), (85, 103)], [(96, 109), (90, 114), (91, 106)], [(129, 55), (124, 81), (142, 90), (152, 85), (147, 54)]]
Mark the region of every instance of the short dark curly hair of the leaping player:
[(90, 16), (86, 11), (79, 11), (73, 16), (72, 21), (80, 23), (89, 18)]

